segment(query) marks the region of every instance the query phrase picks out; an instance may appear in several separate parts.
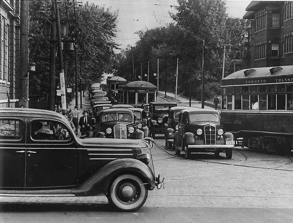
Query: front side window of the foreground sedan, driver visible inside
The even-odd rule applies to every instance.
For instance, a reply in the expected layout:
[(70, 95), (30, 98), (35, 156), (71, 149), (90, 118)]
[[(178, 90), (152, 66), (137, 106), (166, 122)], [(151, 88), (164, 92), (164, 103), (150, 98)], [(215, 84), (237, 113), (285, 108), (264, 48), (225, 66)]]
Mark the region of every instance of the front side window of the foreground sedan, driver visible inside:
[(31, 138), (34, 140), (70, 140), (71, 134), (63, 123), (34, 120), (31, 122)]

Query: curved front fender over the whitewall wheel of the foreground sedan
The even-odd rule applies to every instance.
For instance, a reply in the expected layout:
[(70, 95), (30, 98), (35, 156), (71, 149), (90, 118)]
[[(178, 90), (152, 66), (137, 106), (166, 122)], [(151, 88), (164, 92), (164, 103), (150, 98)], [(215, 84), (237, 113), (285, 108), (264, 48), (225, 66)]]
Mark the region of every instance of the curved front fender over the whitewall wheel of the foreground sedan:
[(107, 195), (111, 180), (123, 173), (138, 176), (143, 183), (148, 184), (149, 190), (153, 190), (155, 187), (154, 172), (149, 166), (137, 159), (123, 158), (104, 165), (79, 187), (73, 189), (72, 193), (77, 196)]

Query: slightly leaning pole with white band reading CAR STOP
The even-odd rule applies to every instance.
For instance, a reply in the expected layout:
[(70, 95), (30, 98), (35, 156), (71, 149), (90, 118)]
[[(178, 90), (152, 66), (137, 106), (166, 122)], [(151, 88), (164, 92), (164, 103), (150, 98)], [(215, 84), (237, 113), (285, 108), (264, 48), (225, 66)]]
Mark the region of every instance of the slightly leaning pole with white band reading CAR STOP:
[(57, 25), (57, 37), (58, 37), (58, 50), (59, 50), (59, 63), (60, 63), (60, 88), (61, 88), (61, 105), (62, 113), (66, 112), (66, 93), (65, 93), (65, 78), (64, 78), (64, 67), (63, 67), (63, 55), (62, 55), (62, 42), (61, 42), (61, 26), (60, 26), (60, 15), (59, 15), (59, 0), (55, 0), (56, 10), (56, 25)]

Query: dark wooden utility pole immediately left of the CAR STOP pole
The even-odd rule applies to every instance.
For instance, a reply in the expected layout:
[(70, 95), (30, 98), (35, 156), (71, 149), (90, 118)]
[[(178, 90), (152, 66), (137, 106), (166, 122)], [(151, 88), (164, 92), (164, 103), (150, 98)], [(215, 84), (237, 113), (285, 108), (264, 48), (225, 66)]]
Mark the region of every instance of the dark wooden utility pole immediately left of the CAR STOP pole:
[[(52, 4), (52, 18), (55, 17), (55, 5)], [(50, 29), (50, 39), (56, 39), (56, 20), (52, 21)], [(49, 94), (48, 94), (48, 110), (53, 110), (55, 102), (55, 92), (56, 92), (56, 41), (51, 42), (50, 44), (50, 74), (49, 74)]]

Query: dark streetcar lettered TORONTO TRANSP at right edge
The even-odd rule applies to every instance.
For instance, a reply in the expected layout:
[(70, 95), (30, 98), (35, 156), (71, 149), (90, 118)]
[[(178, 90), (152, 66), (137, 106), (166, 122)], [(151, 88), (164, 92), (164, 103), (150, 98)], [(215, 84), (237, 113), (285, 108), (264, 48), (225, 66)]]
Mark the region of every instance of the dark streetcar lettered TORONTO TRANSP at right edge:
[(293, 65), (236, 71), (221, 80), (221, 124), (235, 146), (293, 149)]

